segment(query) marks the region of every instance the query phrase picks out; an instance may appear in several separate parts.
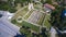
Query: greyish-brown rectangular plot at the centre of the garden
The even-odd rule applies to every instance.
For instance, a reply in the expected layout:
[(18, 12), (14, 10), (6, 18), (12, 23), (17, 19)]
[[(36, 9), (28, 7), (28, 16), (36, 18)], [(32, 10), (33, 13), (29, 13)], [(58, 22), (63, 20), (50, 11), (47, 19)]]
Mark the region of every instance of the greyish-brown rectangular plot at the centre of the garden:
[(44, 16), (44, 13), (40, 11), (33, 11), (33, 13), (30, 15), (28, 21), (34, 24), (40, 24), (43, 21), (41, 18), (44, 18), (43, 16)]

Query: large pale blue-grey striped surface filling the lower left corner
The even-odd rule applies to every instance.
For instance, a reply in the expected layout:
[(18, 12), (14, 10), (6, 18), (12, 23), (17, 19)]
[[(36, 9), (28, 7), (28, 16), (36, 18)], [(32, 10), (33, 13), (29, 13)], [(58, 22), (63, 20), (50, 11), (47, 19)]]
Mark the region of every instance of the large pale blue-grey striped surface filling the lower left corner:
[(0, 17), (0, 37), (13, 37), (20, 34), (20, 27), (13, 25), (6, 18), (6, 13), (0, 11), (3, 17)]

